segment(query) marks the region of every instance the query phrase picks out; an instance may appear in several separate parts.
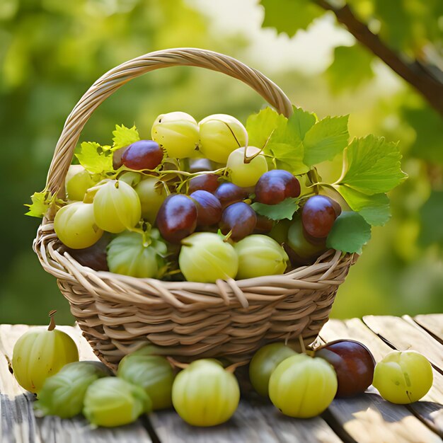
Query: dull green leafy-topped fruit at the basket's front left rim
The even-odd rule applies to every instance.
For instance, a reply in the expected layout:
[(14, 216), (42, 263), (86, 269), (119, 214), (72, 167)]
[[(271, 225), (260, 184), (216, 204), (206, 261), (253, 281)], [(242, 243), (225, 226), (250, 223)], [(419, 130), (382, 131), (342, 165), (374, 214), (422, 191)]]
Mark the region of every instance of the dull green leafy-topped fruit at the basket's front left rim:
[(157, 229), (152, 229), (149, 244), (144, 243), (142, 234), (123, 232), (108, 245), (108, 267), (115, 274), (139, 278), (159, 278), (166, 261), (163, 258), (168, 248), (160, 240)]

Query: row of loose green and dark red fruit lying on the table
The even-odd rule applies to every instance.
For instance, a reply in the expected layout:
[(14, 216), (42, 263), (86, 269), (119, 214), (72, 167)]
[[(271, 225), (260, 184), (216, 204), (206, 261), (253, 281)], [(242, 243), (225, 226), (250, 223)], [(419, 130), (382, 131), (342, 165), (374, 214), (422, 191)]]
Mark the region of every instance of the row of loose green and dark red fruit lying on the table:
[[(173, 406), (190, 425), (214, 426), (236, 411), (240, 389), (235, 364), (225, 368), (217, 359), (179, 364), (146, 345), (125, 356), (113, 376), (100, 362), (79, 362), (74, 341), (54, 326), (51, 319), (49, 330), (28, 331), (13, 349), (14, 375), (37, 393), (38, 415), (71, 418), (83, 413), (95, 426), (114, 427)], [(310, 418), (333, 398), (356, 396), (370, 384), (392, 403), (418, 401), (432, 386), (432, 367), (415, 351), (393, 351), (375, 364), (367, 347), (353, 340), (301, 354), (284, 343), (271, 343), (251, 359), (249, 378), (255, 391), (285, 415)]]

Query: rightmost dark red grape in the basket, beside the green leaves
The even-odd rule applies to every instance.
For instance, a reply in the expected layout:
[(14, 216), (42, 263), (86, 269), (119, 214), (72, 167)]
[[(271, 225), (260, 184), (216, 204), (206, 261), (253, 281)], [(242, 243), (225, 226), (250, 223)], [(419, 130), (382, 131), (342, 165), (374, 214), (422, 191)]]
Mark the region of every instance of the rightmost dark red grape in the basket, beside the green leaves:
[(303, 228), (314, 238), (327, 237), (336, 218), (331, 199), (325, 195), (310, 197), (301, 209)]

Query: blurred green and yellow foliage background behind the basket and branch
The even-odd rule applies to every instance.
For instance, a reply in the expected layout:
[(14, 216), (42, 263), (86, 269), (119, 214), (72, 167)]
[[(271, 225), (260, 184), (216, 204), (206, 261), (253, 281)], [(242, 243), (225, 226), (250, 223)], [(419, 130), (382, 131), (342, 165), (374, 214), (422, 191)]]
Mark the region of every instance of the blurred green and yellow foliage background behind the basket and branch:
[[(400, 142), (410, 178), (391, 192), (391, 222), (373, 229), (340, 287), (333, 316), (442, 311), (442, 118), (332, 14), (305, 7), (309, 0), (295, 3), (297, 15), (290, 16), (278, 10), (279, 1), (263, 1), (264, 25), (295, 33), (289, 38), (261, 27), (264, 10), (256, 0), (0, 1), (0, 323), (45, 323), (50, 309), (59, 310), (59, 323), (73, 321), (56, 280), (32, 251), (39, 220), (23, 215), (23, 203), (44, 188), (57, 137), (77, 100), (127, 59), (186, 46), (224, 52), (260, 69), (295, 105), (318, 117), (350, 113), (352, 137), (372, 132)], [(372, 19), (393, 49), (441, 62), (441, 1), (348, 3), (362, 20)], [(263, 105), (247, 86), (222, 74), (163, 69), (117, 91), (81, 140), (108, 143), (115, 124), (134, 122), (149, 137), (154, 117), (172, 110), (197, 120), (228, 113), (245, 122)], [(321, 170), (336, 178), (340, 159)]]

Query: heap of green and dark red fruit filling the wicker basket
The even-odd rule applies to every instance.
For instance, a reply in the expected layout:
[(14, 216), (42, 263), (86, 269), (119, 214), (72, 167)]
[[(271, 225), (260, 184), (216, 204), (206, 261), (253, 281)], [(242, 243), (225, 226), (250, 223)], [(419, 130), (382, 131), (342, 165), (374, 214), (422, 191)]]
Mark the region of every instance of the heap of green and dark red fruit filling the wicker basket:
[[(326, 251), (338, 202), (309, 189), (301, 195), (292, 173), (275, 168), (262, 149), (245, 147), (248, 134), (236, 118), (217, 114), (197, 123), (186, 113), (163, 114), (151, 138), (108, 151), (110, 178), (70, 167), (69, 204), (57, 212), (54, 230), (79, 263), (215, 282), (282, 274), (289, 263), (311, 263)], [(254, 209), (284, 202), (294, 208), (286, 219)]]

